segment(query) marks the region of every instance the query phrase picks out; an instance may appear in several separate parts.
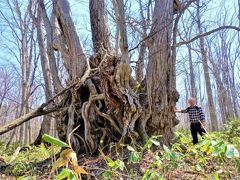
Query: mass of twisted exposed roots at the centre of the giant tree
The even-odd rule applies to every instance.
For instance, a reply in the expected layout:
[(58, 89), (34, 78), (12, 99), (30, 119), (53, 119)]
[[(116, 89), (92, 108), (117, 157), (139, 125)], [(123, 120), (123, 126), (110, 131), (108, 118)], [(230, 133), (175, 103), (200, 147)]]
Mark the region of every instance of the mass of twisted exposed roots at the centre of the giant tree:
[(64, 97), (68, 111), (58, 119), (59, 131), (63, 132), (60, 138), (66, 140), (69, 132), (80, 125), (71, 139), (78, 153), (94, 153), (115, 138), (121, 143), (139, 138), (136, 122), (142, 107), (130, 87), (130, 66), (119, 63), (120, 58), (103, 49), (90, 60), (95, 73), (88, 73), (86, 81), (74, 86)]

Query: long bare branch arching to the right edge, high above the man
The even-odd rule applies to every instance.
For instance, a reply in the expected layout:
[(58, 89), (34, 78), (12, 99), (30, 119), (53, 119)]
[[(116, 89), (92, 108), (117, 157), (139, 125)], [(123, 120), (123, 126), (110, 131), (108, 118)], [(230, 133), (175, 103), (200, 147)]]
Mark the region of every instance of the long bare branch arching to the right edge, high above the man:
[(195, 36), (194, 38), (192, 39), (189, 39), (189, 40), (186, 40), (186, 41), (182, 41), (182, 42), (179, 42), (176, 44), (177, 47), (181, 46), (181, 45), (185, 45), (185, 44), (189, 44), (201, 37), (205, 37), (205, 36), (208, 36), (212, 33), (215, 33), (217, 31), (220, 31), (220, 30), (223, 30), (223, 29), (233, 29), (233, 30), (236, 30), (236, 31), (240, 31), (240, 28), (239, 27), (236, 27), (236, 26), (221, 26), (221, 27), (218, 27), (216, 29), (213, 29), (211, 31), (208, 31), (208, 32), (205, 32), (205, 33), (202, 33), (202, 34), (199, 34), (197, 36)]

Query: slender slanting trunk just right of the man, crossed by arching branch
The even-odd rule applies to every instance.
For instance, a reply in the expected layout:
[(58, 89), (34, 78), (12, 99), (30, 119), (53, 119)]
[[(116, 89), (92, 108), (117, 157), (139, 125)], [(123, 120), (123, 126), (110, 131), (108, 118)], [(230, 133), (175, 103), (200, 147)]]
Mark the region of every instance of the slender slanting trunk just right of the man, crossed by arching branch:
[[(200, 19), (200, 0), (197, 1), (197, 28), (199, 33), (202, 33), (202, 24)], [(200, 50), (201, 50), (201, 58), (202, 58), (202, 64), (203, 64), (203, 71), (204, 71), (204, 77), (205, 77), (205, 84), (206, 84), (206, 90), (207, 90), (207, 97), (208, 97), (208, 105), (209, 105), (209, 111), (210, 111), (210, 121), (212, 124), (212, 130), (216, 131), (218, 130), (218, 122), (217, 122), (217, 116), (216, 116), (216, 110), (213, 102), (213, 94), (212, 94), (212, 87), (211, 87), (211, 80), (210, 80), (210, 74), (209, 74), (209, 68), (208, 68), (208, 57), (207, 57), (207, 51), (205, 49), (204, 44), (204, 37), (199, 38), (200, 43)]]

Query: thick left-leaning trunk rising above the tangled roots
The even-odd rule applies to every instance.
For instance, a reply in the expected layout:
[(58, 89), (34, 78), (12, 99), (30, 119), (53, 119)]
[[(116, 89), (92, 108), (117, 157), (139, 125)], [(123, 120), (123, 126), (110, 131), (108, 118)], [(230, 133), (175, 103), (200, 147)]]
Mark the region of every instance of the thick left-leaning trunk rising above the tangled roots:
[[(62, 41), (57, 45), (65, 61), (70, 79), (75, 81), (83, 76), (86, 69), (87, 57), (79, 40), (76, 28), (70, 15), (70, 5), (67, 0), (53, 0), (53, 18), (56, 20), (54, 28), (61, 32)], [(59, 29), (57, 29), (59, 28)], [(54, 34), (58, 38), (59, 34)], [(65, 43), (63, 43), (65, 42)]]

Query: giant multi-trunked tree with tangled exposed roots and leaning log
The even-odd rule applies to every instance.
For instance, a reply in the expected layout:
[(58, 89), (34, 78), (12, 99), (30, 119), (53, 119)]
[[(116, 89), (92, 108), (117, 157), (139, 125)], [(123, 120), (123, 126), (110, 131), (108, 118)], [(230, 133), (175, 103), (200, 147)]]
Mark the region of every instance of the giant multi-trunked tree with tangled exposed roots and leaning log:
[[(146, 140), (153, 134), (161, 134), (162, 143), (170, 144), (172, 127), (178, 123), (173, 111), (179, 95), (175, 89), (176, 46), (172, 46), (173, 17), (178, 1), (155, 1), (151, 32), (144, 42), (149, 50), (147, 74), (139, 78), (143, 80), (137, 91), (133, 89), (139, 83), (131, 76), (129, 64), (125, 4), (123, 0), (114, 0), (113, 4), (120, 50), (115, 52), (112, 48), (105, 0), (90, 0), (94, 53), (88, 58), (71, 18), (68, 1), (53, 0), (51, 20), (43, 1), (38, 1), (47, 32), (47, 46), (50, 46), (48, 57), (46, 52), (41, 52), (45, 55), (41, 57), (42, 61), (49, 60), (57, 95), (48, 98), (49, 101), (36, 112), (18, 119), (17, 124), (57, 111), (58, 136), (67, 141), (72, 134), (69, 140), (78, 153), (94, 153), (99, 146), (105, 147), (112, 141)], [(38, 41), (41, 45), (40, 36)], [(65, 89), (56, 77), (55, 52), (60, 53), (67, 72), (68, 87)], [(13, 126), (11, 124), (10, 128)], [(1, 132), (8, 128), (5, 126)]]

